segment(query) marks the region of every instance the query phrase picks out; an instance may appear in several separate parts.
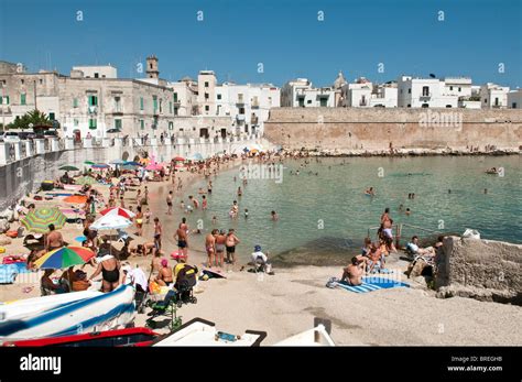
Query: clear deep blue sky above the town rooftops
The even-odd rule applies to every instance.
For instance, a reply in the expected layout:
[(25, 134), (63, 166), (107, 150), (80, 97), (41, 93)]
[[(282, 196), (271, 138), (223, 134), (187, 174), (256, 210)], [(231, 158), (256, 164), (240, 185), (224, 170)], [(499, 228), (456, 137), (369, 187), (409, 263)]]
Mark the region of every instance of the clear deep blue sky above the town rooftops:
[[(522, 87), (521, 0), (0, 0), (0, 59), (68, 74), (107, 64), (140, 77), (160, 58), (176, 80), (214, 69), (218, 80), (329, 85), (401, 74), (468, 75)], [(77, 11), (83, 21), (77, 21)], [(204, 20), (197, 21), (203, 11)], [(318, 12), (324, 21), (318, 21)], [(438, 21), (438, 11), (444, 21)], [(264, 73), (258, 73), (262, 63)], [(384, 73), (378, 72), (379, 63)], [(503, 63), (504, 73), (499, 73)]]

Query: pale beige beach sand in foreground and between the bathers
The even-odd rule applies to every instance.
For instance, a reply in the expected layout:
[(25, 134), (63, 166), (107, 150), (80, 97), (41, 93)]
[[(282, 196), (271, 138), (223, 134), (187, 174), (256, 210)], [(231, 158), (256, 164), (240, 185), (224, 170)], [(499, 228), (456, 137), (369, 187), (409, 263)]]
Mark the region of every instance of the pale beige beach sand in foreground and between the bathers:
[[(237, 165), (239, 162), (221, 166), (221, 170)], [(184, 189), (200, 175), (181, 173)], [(151, 204), (152, 217), (157, 216), (164, 229), (163, 247), (167, 258), (176, 250), (172, 238), (182, 215), (174, 204), (174, 214), (165, 215), (165, 197), (171, 189), (168, 182), (148, 183), (150, 198), (157, 200)], [(107, 197), (108, 187), (99, 186)], [(126, 203), (132, 201), (135, 193), (126, 194)], [(176, 197), (184, 193), (176, 193)], [(28, 199), (31, 201), (31, 198)], [(61, 204), (61, 201), (42, 201), (39, 205)], [(134, 204), (135, 205), (135, 204)], [(151, 219), (152, 220), (152, 219)], [(17, 226), (13, 226), (15, 229)], [(143, 238), (135, 242), (152, 240), (152, 221), (144, 227)], [(74, 238), (81, 234), (81, 228), (66, 225), (62, 229), (64, 239), (76, 243)], [(133, 229), (129, 229), (133, 232)], [(204, 234), (191, 237), (189, 263), (202, 268), (206, 260), (203, 245)], [(22, 247), (22, 239), (14, 239), (12, 244), (4, 245), (7, 254), (28, 253)], [(242, 249), (244, 250), (244, 249)], [(140, 265), (148, 272), (151, 257), (131, 258), (131, 264)], [(170, 260), (171, 264), (174, 261)], [(405, 262), (394, 261), (389, 268), (400, 273), (405, 270)], [(248, 269), (248, 268), (247, 268)], [(485, 303), (469, 298), (454, 297), (439, 299), (435, 293), (422, 283), (407, 281), (410, 288), (381, 290), (371, 293), (356, 294), (344, 290), (325, 287), (331, 276), (340, 276), (339, 266), (293, 266), (274, 268), (274, 275), (260, 277), (254, 273), (226, 271), (227, 279), (200, 281), (197, 287), (197, 304), (184, 305), (177, 314), (186, 323), (200, 317), (216, 323), (219, 330), (242, 334), (247, 329), (264, 330), (268, 337), (263, 345), (271, 345), (297, 332), (307, 330), (314, 325), (314, 317), (331, 320), (331, 337), (337, 345), (352, 346), (520, 346), (522, 332), (522, 309), (518, 306), (498, 303)], [(89, 273), (91, 269), (86, 269)], [(33, 286), (30, 293), (22, 290)], [(12, 285), (0, 286), (0, 301), (35, 297), (40, 295), (39, 275), (20, 275)], [(135, 326), (143, 326), (146, 315), (137, 315)], [(164, 332), (165, 329), (157, 331)]]

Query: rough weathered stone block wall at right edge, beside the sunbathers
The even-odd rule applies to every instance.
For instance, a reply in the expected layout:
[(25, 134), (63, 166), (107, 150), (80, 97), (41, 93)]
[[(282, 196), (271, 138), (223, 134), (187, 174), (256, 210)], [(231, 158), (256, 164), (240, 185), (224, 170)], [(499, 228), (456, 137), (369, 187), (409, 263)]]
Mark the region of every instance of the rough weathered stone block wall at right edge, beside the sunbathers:
[(522, 304), (522, 245), (447, 237), (437, 259), (437, 296)]

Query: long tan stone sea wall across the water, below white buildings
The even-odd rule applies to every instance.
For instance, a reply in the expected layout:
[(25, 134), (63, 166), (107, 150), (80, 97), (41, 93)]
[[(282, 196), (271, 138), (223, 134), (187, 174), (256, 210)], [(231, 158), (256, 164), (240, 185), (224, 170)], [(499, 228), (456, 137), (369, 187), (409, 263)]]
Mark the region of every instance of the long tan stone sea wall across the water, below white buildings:
[(452, 148), (518, 150), (522, 110), (274, 108), (264, 135), (290, 149), (389, 150)]

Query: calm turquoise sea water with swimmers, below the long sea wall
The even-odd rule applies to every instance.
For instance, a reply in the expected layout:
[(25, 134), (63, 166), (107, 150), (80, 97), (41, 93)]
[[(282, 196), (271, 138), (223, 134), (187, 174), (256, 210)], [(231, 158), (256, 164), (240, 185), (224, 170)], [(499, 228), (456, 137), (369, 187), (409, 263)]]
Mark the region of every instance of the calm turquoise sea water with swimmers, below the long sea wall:
[[(458, 233), (474, 228), (485, 239), (522, 243), (519, 156), (308, 161), (304, 168), (300, 167), (304, 160), (286, 161), (280, 184), (274, 179), (249, 179), (243, 187), (239, 168), (213, 177), (209, 209), (193, 212), (192, 226), (202, 219), (206, 231), (214, 227), (235, 228), (242, 240), (238, 248), (241, 254), (250, 253), (257, 243), (271, 253), (346, 253), (360, 248), (368, 228), (378, 226), (383, 209), (390, 207), (394, 223)], [(485, 174), (486, 168), (493, 166), (503, 167), (504, 176)], [(296, 170), (301, 170), (298, 176), (290, 175)], [(243, 188), (239, 198), (238, 186)], [(363, 194), (370, 186), (376, 189), (374, 197)], [(206, 188), (206, 181), (192, 187), (193, 195), (197, 195), (198, 187)], [(415, 193), (415, 198), (409, 199), (409, 193)], [(239, 200), (240, 207), (236, 220), (228, 216), (233, 199)], [(401, 204), (412, 210), (410, 216), (399, 211)], [(248, 219), (243, 217), (244, 208), (249, 209)], [(271, 221), (271, 210), (278, 211), (279, 221)], [(213, 216), (218, 218), (216, 226), (211, 226)], [(403, 237), (412, 234), (423, 237), (428, 232), (404, 228)]]

